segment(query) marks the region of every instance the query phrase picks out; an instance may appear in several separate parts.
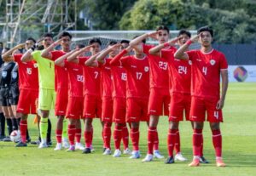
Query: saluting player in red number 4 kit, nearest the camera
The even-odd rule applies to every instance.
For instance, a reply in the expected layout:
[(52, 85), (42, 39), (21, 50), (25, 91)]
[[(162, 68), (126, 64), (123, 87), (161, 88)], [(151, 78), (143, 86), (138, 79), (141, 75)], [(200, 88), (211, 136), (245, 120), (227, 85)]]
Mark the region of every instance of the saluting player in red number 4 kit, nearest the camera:
[[(222, 159), (222, 136), (219, 123), (223, 122), (222, 108), (228, 88), (228, 63), (224, 54), (212, 48), (213, 31), (209, 27), (201, 27), (197, 36), (177, 50), (174, 57), (180, 60), (190, 60), (191, 66), (191, 109), (190, 120), (194, 122), (193, 162), (190, 167), (200, 165), (202, 129), (207, 112), (207, 121), (212, 129), (212, 143), (216, 154), (216, 164), (224, 167)], [(191, 43), (199, 41), (201, 49), (185, 52)], [(222, 91), (220, 94), (220, 77)]]

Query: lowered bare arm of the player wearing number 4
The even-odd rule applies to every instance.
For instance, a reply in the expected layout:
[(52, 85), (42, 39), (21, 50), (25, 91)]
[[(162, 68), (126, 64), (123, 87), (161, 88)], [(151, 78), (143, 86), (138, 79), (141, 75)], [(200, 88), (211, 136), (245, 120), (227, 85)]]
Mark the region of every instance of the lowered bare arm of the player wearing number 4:
[(228, 90), (229, 85), (229, 76), (228, 76), (228, 70), (221, 70), (220, 76), (222, 79), (222, 85), (221, 85), (221, 97), (218, 100), (216, 109), (221, 110), (224, 107), (224, 101)]

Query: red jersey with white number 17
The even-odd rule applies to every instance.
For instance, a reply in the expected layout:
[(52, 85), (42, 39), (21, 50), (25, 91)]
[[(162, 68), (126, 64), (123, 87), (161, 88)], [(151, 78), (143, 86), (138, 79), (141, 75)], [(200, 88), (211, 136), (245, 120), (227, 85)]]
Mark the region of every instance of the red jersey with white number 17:
[[(126, 50), (123, 50), (113, 60), (113, 65), (124, 66), (127, 72), (126, 98), (143, 98), (149, 96), (149, 65), (148, 57), (137, 59), (135, 56), (125, 56)], [(121, 59), (120, 59), (121, 58)], [(115, 61), (119, 60), (119, 64)], [(118, 63), (118, 61), (117, 61)]]

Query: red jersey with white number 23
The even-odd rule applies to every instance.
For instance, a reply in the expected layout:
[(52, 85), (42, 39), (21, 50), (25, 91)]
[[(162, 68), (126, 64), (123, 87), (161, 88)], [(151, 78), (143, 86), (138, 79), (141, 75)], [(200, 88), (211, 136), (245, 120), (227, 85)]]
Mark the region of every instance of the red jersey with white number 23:
[[(168, 63), (160, 56), (149, 54), (150, 48), (154, 45), (143, 44), (143, 52), (148, 55), (150, 88), (169, 88)], [(166, 48), (172, 50), (173, 47)]]

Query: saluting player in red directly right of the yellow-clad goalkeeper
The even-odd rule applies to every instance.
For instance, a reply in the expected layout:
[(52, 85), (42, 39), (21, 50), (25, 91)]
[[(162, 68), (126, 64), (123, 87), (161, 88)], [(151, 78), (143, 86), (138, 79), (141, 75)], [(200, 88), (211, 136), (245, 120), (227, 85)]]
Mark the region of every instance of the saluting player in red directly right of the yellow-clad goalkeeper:
[[(45, 48), (41, 56), (49, 60), (57, 60), (62, 55), (70, 51), (72, 36), (67, 31), (61, 33), (59, 40), (52, 43), (48, 48)], [(61, 44), (61, 50), (53, 49)], [(68, 75), (67, 69), (61, 66), (55, 66), (55, 116), (58, 116), (58, 122), (56, 126), (56, 139), (57, 144), (55, 150), (61, 150), (61, 140), (64, 148), (68, 148), (67, 142), (67, 120), (65, 118), (68, 102)], [(63, 130), (63, 131), (62, 131)], [(63, 132), (63, 133), (62, 133)], [(61, 139), (61, 134), (63, 139)]]

